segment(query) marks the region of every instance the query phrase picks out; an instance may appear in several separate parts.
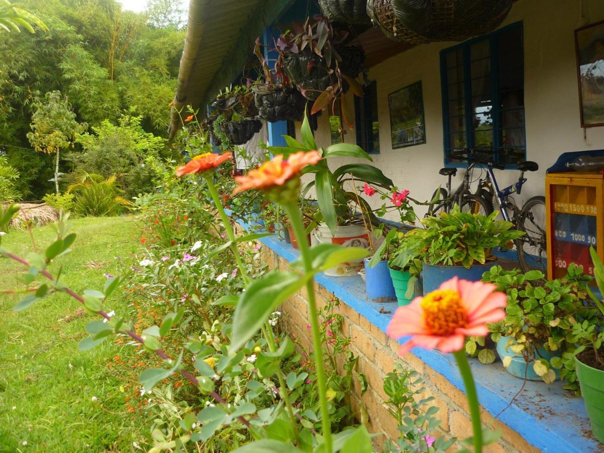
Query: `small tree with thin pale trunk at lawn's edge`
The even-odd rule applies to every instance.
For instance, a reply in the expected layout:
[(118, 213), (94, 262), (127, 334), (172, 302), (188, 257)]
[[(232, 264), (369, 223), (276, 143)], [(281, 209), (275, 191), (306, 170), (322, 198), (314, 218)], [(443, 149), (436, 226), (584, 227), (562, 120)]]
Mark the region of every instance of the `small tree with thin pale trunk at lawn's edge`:
[(36, 151), (55, 154), (54, 185), (59, 194), (60, 150), (73, 147), (80, 134), (88, 129), (86, 123), (78, 123), (67, 97), (60, 91), (48, 92), (43, 100), (34, 103), (31, 132), (27, 138)]

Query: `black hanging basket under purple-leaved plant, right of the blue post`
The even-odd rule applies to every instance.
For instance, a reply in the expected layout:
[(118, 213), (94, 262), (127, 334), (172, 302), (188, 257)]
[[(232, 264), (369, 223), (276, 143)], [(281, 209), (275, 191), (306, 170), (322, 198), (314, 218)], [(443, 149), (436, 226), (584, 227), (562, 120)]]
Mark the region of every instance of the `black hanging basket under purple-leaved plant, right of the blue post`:
[(315, 100), (331, 85), (325, 62), (310, 50), (284, 52), (282, 65), (286, 76), (307, 99)]

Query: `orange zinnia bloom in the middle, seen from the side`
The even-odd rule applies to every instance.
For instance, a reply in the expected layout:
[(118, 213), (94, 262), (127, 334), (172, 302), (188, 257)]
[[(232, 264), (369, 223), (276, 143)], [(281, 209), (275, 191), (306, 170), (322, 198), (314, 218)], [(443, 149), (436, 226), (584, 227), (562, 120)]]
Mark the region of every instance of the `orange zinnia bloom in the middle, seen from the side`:
[(245, 176), (236, 176), (235, 181), (239, 184), (233, 194), (250, 189), (268, 189), (276, 185), (283, 185), (293, 176), (297, 176), (306, 165), (314, 165), (321, 160), (316, 151), (300, 151), (290, 155), (287, 159), (278, 155), (270, 161), (265, 162), (258, 169), (249, 170)]

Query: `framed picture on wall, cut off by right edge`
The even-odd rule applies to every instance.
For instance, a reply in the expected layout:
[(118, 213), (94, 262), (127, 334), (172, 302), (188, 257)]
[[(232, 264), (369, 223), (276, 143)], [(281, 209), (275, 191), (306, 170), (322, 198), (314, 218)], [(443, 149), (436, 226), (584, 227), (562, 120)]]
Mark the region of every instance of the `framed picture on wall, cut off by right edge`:
[(574, 31), (581, 127), (604, 126), (604, 21)]

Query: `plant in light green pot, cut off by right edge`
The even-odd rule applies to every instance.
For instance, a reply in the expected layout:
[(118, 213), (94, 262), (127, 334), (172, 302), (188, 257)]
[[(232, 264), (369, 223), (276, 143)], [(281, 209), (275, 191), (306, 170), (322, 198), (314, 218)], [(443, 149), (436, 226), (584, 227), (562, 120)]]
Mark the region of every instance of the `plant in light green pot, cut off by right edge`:
[[(604, 294), (604, 264), (593, 247), (590, 247), (590, 252), (596, 283), (600, 294)], [(596, 304), (598, 316), (596, 322), (583, 320), (573, 325), (573, 333), (579, 344), (573, 353), (574, 367), (585, 400), (585, 409), (590, 417), (591, 431), (597, 440), (604, 442), (604, 331), (601, 330), (604, 305), (589, 287), (587, 291)]]

